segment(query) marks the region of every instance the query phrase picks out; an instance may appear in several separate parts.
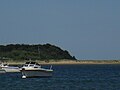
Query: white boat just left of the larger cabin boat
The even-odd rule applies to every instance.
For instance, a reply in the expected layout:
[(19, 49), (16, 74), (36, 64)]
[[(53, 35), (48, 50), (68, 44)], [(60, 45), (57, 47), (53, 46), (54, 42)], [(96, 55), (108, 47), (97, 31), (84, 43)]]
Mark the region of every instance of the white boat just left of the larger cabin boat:
[(1, 63), (0, 67), (5, 70), (5, 72), (20, 72), (20, 68), (16, 66), (9, 66), (8, 64)]

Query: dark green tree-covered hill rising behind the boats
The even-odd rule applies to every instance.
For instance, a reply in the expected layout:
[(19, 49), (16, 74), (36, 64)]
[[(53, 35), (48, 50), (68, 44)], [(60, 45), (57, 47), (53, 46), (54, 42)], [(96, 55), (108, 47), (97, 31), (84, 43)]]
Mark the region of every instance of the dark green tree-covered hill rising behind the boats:
[(9, 44), (0, 45), (0, 59), (9, 60), (59, 60), (71, 59), (76, 60), (68, 51), (51, 44)]

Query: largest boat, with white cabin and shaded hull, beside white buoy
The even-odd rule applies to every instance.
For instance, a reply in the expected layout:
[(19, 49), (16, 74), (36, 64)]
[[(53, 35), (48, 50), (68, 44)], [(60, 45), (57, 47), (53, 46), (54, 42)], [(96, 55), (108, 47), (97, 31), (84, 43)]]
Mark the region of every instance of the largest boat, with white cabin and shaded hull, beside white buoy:
[(36, 62), (26, 62), (25, 65), (21, 68), (22, 78), (27, 77), (51, 77), (52, 76), (52, 66), (50, 69), (42, 68)]

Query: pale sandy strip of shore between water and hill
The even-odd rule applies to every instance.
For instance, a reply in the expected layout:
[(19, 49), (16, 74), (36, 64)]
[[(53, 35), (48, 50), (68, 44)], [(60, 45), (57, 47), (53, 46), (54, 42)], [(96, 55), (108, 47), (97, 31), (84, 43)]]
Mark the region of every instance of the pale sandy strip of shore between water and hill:
[[(35, 60), (39, 64), (120, 64), (120, 60), (49, 60), (48, 62)], [(6, 61), (10, 65), (23, 65), (26, 61)]]

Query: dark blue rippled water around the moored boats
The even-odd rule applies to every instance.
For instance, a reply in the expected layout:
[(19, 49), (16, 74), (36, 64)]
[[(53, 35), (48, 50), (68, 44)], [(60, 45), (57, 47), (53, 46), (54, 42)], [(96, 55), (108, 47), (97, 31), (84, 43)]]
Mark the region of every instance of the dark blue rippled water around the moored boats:
[(0, 74), (0, 90), (120, 90), (120, 65), (53, 65), (51, 78)]

